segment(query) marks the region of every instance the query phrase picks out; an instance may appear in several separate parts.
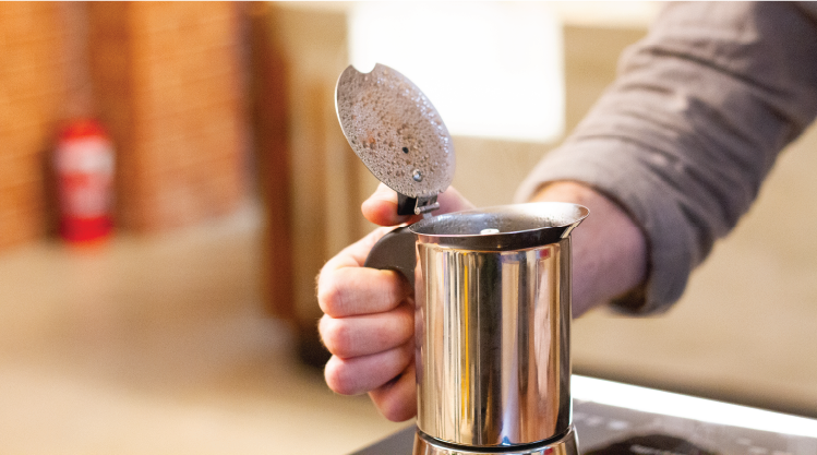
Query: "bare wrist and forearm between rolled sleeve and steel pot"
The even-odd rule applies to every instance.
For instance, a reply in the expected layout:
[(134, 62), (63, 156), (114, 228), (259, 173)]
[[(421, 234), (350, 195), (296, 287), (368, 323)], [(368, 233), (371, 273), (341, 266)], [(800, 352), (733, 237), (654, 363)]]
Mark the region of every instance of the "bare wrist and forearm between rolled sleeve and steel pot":
[(616, 203), (576, 182), (551, 183), (532, 200), (572, 202), (590, 209), (590, 216), (573, 234), (574, 316), (629, 294), (644, 283), (647, 241)]

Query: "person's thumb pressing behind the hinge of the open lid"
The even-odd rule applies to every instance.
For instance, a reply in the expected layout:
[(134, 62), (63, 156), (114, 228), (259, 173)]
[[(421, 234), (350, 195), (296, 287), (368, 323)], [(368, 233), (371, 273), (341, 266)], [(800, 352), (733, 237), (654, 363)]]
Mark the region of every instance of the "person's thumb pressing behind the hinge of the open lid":
[[(440, 209), (434, 212), (436, 214), (473, 208), (473, 204), (462, 197), (453, 187), (441, 193), (437, 202), (440, 202)], [(380, 226), (395, 226), (420, 219), (419, 215), (397, 215), (397, 193), (383, 183), (377, 185), (377, 190), (363, 202), (360, 208), (368, 220)]]

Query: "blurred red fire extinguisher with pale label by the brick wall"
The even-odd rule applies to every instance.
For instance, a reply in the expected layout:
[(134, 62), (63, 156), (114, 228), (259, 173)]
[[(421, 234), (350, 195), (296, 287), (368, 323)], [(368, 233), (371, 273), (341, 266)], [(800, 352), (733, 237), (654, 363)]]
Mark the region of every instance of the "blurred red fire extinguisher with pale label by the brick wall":
[(113, 144), (97, 120), (76, 120), (60, 132), (55, 170), (63, 239), (86, 242), (110, 235), (113, 163)]

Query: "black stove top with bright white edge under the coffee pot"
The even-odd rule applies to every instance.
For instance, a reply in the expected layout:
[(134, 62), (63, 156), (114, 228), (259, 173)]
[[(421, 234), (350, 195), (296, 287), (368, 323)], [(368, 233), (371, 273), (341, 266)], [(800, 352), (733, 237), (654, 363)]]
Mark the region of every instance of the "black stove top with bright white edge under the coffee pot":
[[(575, 376), (584, 455), (817, 455), (817, 420)], [(352, 455), (411, 455), (409, 427)]]

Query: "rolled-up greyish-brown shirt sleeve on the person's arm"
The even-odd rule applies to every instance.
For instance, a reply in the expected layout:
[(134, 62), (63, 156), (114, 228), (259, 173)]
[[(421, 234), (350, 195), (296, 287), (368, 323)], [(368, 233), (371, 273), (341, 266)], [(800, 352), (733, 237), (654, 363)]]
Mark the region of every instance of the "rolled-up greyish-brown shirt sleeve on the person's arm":
[(816, 115), (817, 1), (670, 1), (517, 199), (574, 180), (621, 204), (647, 236), (650, 264), (644, 292), (617, 308), (662, 311)]

